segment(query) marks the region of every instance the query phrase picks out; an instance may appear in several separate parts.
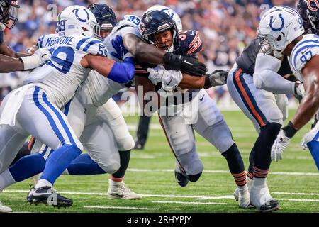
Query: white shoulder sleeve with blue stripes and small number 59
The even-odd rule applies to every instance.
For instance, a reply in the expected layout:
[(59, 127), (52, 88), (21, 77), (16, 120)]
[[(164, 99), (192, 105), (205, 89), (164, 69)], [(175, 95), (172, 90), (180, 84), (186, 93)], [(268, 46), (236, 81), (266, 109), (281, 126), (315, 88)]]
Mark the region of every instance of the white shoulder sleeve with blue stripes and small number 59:
[(75, 48), (77, 50), (82, 50), (83, 52), (89, 52), (91, 55), (101, 55), (104, 57), (108, 56), (108, 51), (106, 50), (102, 41), (98, 40), (97, 38), (82, 38), (79, 40)]

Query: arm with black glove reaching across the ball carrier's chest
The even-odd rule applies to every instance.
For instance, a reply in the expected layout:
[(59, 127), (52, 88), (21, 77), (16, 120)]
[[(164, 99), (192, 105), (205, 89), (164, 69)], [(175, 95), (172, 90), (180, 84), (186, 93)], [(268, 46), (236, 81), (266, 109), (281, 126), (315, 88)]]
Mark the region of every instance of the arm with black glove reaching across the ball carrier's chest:
[(164, 65), (167, 70), (181, 70), (181, 72), (194, 76), (202, 76), (207, 72), (206, 65), (194, 57), (164, 52), (164, 50), (145, 43), (133, 34), (124, 35), (123, 45), (140, 62)]

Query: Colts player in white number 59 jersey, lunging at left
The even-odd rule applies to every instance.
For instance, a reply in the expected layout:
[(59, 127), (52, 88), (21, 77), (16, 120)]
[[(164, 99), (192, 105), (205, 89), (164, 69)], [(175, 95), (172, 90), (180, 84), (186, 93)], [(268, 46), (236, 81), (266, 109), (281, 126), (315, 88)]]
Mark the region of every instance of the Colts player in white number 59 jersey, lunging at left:
[(132, 57), (123, 63), (108, 59), (103, 43), (94, 38), (96, 31), (99, 25), (89, 9), (67, 7), (59, 16), (60, 36), (53, 40), (50, 62), (33, 70), (25, 85), (13, 90), (1, 103), (0, 173), (9, 174), (8, 167), (28, 135), (55, 150), (47, 158), (38, 184), (30, 190), (28, 201), (72, 205), (71, 199), (52, 190), (52, 184), (80, 155), (83, 146), (60, 108), (72, 99), (88, 72), (94, 69), (117, 82), (133, 78)]

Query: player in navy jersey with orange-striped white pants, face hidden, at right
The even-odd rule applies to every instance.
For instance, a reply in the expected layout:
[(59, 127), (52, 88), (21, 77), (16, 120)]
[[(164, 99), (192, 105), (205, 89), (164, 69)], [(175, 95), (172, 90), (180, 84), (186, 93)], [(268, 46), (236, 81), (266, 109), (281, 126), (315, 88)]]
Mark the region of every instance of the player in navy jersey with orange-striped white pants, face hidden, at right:
[[(305, 91), (303, 84), (291, 76), (288, 58), (264, 55), (259, 45), (261, 40), (260, 37), (252, 40), (237, 57), (228, 75), (228, 91), (259, 133), (250, 153), (247, 184), (252, 188), (252, 204), (267, 212), (279, 209), (279, 203), (269, 193), (267, 175), (272, 144), (288, 115), (285, 94), (293, 94), (300, 100)], [(237, 192), (234, 196), (237, 199)]]

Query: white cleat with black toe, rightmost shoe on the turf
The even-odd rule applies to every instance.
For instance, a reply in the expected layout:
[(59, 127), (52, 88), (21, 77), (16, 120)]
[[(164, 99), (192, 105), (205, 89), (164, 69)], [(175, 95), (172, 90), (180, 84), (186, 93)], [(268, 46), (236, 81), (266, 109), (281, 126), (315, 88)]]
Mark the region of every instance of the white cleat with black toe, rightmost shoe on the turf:
[(252, 185), (250, 189), (250, 204), (263, 213), (279, 210), (279, 202), (272, 199), (267, 185)]

